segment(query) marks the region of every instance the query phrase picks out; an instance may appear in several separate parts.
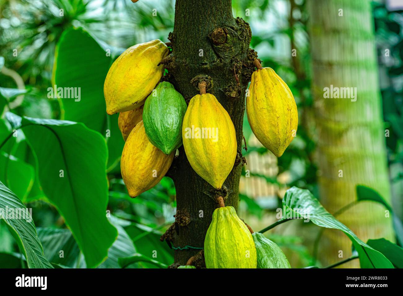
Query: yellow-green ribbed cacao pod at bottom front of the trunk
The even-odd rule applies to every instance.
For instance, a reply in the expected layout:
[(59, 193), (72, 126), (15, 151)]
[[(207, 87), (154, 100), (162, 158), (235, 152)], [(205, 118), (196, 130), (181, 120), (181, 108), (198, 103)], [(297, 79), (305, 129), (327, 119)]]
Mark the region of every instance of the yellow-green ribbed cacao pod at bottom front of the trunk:
[(256, 268), (256, 248), (233, 207), (214, 210), (204, 239), (207, 268)]

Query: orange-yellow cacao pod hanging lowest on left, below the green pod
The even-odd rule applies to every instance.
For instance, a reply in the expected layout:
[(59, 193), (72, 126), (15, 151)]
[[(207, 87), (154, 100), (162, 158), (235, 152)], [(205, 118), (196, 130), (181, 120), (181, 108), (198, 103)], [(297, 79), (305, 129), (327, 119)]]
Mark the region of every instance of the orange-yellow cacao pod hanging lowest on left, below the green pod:
[(123, 147), (120, 171), (130, 197), (151, 189), (168, 172), (175, 153), (164, 154), (148, 141), (143, 121), (130, 132)]

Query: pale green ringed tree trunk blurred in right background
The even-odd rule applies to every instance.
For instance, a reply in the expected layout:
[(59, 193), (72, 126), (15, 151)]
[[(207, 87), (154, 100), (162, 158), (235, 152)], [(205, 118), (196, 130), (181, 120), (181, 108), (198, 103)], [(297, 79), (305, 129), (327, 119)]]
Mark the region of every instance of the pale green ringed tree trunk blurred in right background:
[[(334, 213), (356, 200), (356, 186), (362, 184), (390, 203), (370, 2), (310, 0), (309, 4), (320, 201)], [(324, 98), (324, 87), (330, 85), (357, 87), (357, 101)], [(380, 237), (394, 241), (392, 217), (385, 217), (381, 205), (361, 202), (337, 218), (364, 242)], [(350, 255), (351, 241), (345, 234), (324, 232), (319, 248), (324, 264)], [(341, 267), (359, 267), (359, 263), (355, 260)]]

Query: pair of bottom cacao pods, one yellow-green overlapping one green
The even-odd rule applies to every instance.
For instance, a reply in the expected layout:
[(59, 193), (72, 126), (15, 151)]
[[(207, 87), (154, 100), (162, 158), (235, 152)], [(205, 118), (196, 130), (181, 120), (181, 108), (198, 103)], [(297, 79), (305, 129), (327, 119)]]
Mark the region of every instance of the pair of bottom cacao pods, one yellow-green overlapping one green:
[(214, 210), (204, 259), (207, 268), (291, 268), (280, 247), (249, 230), (233, 207)]

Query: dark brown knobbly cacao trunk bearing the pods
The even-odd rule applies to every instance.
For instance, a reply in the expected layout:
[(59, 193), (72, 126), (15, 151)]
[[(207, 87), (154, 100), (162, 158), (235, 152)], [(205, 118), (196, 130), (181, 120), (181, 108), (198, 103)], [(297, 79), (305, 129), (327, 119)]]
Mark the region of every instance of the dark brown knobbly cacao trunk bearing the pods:
[(175, 263), (184, 265), (204, 246), (212, 213), (218, 207), (216, 198), (222, 196), (226, 206), (238, 207), (245, 89), (253, 72), (249, 58), (256, 54), (249, 50), (249, 25), (233, 17), (231, 0), (177, 0), (174, 30), (168, 39), (172, 53), (163, 63), (169, 81), (187, 103), (199, 93), (197, 82), (207, 81), (207, 92), (227, 110), (237, 136), (237, 159), (221, 190), (195, 173), (183, 146), (168, 172), (176, 188), (177, 214), (163, 238), (175, 249)]

